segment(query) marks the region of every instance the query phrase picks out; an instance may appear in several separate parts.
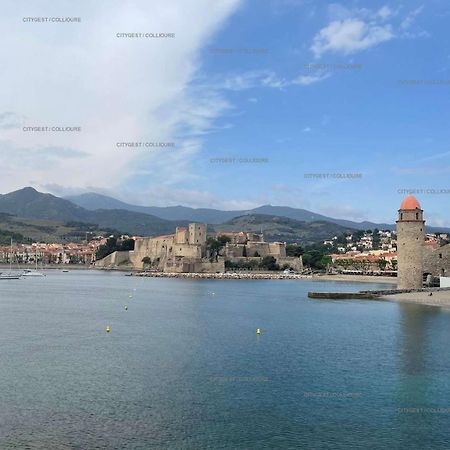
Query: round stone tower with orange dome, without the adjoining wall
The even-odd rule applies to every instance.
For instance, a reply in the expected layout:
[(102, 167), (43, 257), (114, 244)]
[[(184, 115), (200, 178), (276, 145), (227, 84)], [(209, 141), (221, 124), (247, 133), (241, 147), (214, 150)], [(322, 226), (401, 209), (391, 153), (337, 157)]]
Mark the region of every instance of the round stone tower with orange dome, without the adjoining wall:
[(410, 195), (403, 200), (397, 220), (397, 288), (423, 286), (425, 221), (419, 202)]

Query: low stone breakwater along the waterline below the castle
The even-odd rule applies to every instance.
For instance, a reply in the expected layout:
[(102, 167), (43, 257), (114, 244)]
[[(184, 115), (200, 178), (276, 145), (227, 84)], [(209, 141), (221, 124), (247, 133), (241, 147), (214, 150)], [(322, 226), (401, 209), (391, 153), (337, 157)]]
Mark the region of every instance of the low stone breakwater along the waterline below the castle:
[(218, 280), (303, 280), (311, 279), (310, 275), (282, 274), (282, 273), (163, 273), (163, 272), (139, 272), (133, 274), (136, 277), (152, 278), (195, 278)]

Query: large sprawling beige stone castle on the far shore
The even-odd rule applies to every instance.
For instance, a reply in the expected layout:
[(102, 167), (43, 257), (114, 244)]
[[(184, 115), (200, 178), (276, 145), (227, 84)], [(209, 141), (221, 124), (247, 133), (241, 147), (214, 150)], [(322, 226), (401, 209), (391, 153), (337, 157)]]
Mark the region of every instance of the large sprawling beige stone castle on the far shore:
[(134, 250), (114, 252), (100, 261), (97, 267), (150, 268), (170, 273), (222, 273), (225, 260), (231, 262), (256, 261), (273, 256), (280, 267), (302, 270), (302, 259), (286, 256), (286, 243), (265, 242), (262, 234), (233, 232), (217, 233), (226, 236), (222, 255), (211, 255), (207, 246), (207, 226), (191, 223), (188, 228), (177, 227), (175, 234), (135, 238)]

